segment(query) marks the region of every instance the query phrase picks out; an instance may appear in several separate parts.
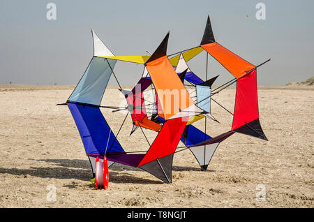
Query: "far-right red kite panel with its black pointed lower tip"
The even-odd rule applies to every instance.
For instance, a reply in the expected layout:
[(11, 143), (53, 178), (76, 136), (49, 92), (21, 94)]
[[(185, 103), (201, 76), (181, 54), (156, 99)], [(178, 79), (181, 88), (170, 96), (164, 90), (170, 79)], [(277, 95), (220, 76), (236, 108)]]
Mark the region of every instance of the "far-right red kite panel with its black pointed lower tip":
[(237, 80), (232, 131), (267, 140), (258, 114), (256, 70)]

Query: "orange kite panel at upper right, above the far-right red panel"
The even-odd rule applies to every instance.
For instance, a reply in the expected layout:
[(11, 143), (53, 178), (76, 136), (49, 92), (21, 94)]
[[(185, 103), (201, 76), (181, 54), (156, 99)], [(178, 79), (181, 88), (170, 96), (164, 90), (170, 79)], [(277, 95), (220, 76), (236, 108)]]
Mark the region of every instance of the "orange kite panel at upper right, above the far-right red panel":
[(220, 64), (237, 79), (255, 68), (254, 65), (237, 56), (237, 54), (234, 54), (230, 50), (227, 50), (222, 45), (219, 45), (219, 43), (209, 43), (201, 45), (201, 47), (219, 61)]

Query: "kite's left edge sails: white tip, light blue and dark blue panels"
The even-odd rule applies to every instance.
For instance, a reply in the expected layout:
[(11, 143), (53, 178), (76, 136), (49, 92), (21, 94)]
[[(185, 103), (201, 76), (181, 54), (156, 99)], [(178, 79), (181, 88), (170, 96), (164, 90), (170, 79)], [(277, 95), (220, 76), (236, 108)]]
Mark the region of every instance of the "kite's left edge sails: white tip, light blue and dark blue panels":
[[(106, 152), (124, 153), (124, 149), (99, 110), (101, 99), (116, 61), (97, 57), (114, 54), (98, 38), (94, 30), (91, 32), (94, 40), (94, 57), (66, 104), (80, 132), (93, 174), (95, 174), (97, 155), (103, 158), (103, 154)], [(108, 165), (112, 165), (112, 163), (112, 161), (108, 161)]]

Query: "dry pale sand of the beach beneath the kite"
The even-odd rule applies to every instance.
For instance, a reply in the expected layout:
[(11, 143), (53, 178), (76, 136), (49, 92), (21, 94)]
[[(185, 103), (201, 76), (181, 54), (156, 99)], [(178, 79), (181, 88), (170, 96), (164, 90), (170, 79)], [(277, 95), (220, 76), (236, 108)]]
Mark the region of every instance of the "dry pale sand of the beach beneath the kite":
[[(109, 189), (97, 191), (73, 117), (56, 106), (73, 87), (0, 86), (0, 207), (313, 207), (313, 89), (260, 87), (260, 121), (269, 141), (236, 133), (219, 145), (206, 172), (185, 150), (174, 156), (172, 184), (116, 163)], [(104, 98), (102, 105), (123, 101), (112, 88)], [(233, 110), (234, 89), (217, 101)], [(207, 121), (209, 135), (230, 130), (232, 116), (215, 103), (212, 110), (220, 124)], [(125, 114), (102, 111), (117, 133)], [(128, 136), (130, 124), (128, 117), (121, 145), (147, 149), (140, 130)], [(203, 129), (204, 122), (196, 126)], [(154, 140), (156, 133), (146, 133)], [(50, 184), (57, 188), (52, 202)], [(256, 199), (259, 186), (264, 201)]]

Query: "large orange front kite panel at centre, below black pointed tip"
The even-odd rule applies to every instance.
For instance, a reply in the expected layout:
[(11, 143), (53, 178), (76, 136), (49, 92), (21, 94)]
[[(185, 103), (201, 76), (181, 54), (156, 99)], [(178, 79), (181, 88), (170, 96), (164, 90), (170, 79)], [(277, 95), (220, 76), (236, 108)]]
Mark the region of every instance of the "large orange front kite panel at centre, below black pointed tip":
[(194, 104), (167, 56), (150, 61), (146, 67), (157, 91), (165, 119)]

